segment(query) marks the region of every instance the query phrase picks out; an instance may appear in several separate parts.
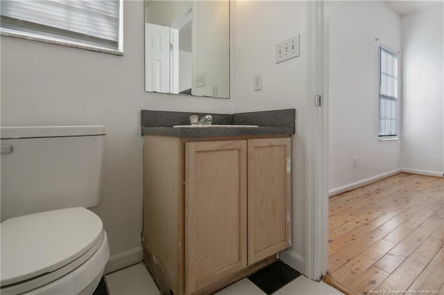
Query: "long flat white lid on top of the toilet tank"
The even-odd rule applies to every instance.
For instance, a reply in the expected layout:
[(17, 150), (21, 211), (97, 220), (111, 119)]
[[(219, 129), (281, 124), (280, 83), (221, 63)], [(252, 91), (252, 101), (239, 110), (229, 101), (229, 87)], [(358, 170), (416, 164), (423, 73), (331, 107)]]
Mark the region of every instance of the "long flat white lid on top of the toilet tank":
[(103, 125), (1, 127), (1, 139), (105, 135)]

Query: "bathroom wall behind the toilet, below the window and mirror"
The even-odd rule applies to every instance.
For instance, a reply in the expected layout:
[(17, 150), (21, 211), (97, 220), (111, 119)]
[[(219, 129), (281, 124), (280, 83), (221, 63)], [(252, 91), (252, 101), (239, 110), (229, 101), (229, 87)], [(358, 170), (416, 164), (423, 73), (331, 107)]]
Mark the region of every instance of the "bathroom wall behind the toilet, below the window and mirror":
[(123, 8), (123, 57), (1, 37), (2, 126), (106, 125), (105, 195), (94, 211), (111, 255), (141, 249), (140, 110), (232, 111), (232, 100), (146, 93), (144, 3)]

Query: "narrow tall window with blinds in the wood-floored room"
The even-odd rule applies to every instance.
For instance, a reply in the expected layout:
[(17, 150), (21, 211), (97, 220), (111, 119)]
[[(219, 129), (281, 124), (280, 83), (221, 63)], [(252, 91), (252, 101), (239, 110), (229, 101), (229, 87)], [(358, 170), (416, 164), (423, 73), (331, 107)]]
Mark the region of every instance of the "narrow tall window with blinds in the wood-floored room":
[(379, 46), (379, 139), (398, 137), (398, 55)]

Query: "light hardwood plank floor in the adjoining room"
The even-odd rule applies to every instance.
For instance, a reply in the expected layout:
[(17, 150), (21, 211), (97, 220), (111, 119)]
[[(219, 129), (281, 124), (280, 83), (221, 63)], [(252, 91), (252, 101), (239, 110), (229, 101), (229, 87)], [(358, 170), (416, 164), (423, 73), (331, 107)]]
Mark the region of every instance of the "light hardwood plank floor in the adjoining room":
[(443, 191), (443, 178), (401, 173), (331, 197), (328, 280), (351, 294), (444, 294)]

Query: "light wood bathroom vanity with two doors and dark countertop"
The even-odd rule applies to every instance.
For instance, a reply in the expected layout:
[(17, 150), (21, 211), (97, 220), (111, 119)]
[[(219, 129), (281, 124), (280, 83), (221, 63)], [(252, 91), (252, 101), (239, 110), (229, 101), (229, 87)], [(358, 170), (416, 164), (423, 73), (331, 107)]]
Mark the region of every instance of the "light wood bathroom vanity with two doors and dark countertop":
[[(259, 127), (191, 128), (153, 126), (170, 112), (142, 111), (144, 261), (162, 294), (210, 294), (290, 246), (295, 110), (279, 112), (212, 115)], [(264, 115), (280, 123), (260, 127)], [(188, 117), (171, 112), (169, 124)]]

